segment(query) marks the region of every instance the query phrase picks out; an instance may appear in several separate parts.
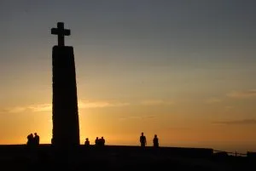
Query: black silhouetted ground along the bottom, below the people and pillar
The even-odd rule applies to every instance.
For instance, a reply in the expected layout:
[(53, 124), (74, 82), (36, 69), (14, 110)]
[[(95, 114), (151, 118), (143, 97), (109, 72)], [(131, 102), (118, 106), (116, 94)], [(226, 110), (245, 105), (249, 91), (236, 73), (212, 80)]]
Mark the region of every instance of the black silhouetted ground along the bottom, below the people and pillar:
[(216, 156), (212, 149), (83, 145), (0, 145), (0, 170), (256, 170), (256, 158)]

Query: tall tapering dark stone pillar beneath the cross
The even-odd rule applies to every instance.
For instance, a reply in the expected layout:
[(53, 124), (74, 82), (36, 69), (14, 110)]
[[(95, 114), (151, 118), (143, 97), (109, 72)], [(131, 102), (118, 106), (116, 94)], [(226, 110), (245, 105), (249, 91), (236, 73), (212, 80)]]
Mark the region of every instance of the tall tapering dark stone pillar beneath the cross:
[(52, 71), (52, 144), (60, 147), (79, 145), (79, 111), (73, 47), (53, 47)]

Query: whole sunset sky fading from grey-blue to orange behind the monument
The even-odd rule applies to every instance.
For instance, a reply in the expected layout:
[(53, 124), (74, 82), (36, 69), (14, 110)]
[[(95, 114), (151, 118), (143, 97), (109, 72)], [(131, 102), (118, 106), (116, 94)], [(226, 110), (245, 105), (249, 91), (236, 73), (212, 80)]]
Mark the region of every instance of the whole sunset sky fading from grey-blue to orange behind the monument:
[(0, 2), (0, 144), (51, 139), (51, 48), (71, 29), (81, 143), (256, 151), (253, 0)]

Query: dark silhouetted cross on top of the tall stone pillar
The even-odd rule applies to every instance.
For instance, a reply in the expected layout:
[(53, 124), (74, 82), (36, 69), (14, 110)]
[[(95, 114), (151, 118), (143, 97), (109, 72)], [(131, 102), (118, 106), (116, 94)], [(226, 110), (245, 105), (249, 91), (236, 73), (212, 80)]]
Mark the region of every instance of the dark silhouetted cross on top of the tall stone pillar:
[(51, 29), (51, 34), (58, 35), (58, 46), (65, 46), (64, 37), (70, 35), (70, 30), (64, 29), (64, 23), (58, 22), (57, 28)]

